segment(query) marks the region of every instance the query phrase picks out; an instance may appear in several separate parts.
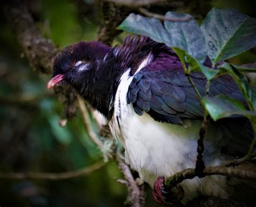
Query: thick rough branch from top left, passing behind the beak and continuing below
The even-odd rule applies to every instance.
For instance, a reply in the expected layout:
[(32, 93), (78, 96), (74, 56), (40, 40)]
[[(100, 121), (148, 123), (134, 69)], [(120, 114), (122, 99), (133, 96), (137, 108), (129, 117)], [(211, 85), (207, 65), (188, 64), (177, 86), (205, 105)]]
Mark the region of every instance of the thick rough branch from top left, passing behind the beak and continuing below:
[[(21, 0), (10, 0), (5, 5), (5, 16), (17, 35), (30, 66), (43, 74), (52, 73), (53, 60), (58, 49), (45, 39)], [(76, 113), (76, 92), (71, 87), (55, 87), (55, 93), (64, 105), (63, 117), (71, 119)]]

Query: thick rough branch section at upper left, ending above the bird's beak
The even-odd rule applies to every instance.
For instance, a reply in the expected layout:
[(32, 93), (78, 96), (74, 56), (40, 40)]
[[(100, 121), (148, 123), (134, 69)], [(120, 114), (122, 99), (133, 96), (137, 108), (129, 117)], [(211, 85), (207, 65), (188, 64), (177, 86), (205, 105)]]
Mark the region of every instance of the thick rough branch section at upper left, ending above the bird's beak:
[(43, 37), (26, 6), (21, 1), (11, 1), (6, 5), (5, 16), (30, 66), (41, 73), (51, 74), (57, 49)]

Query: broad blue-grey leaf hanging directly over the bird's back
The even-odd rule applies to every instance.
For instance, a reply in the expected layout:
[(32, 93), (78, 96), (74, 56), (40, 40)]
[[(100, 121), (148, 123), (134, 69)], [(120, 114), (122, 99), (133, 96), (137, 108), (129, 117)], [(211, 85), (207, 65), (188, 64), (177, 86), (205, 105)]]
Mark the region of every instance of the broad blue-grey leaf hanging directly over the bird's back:
[[(151, 39), (164, 42), (170, 47), (179, 47), (188, 54), (203, 63), (206, 58), (206, 44), (203, 32), (201, 32), (196, 20), (190, 15), (176, 12), (167, 12), (166, 18), (184, 19), (187, 21), (170, 22), (164, 25), (156, 18), (143, 17), (131, 13), (119, 28), (127, 32), (145, 35)], [(191, 18), (189, 18), (191, 17)]]

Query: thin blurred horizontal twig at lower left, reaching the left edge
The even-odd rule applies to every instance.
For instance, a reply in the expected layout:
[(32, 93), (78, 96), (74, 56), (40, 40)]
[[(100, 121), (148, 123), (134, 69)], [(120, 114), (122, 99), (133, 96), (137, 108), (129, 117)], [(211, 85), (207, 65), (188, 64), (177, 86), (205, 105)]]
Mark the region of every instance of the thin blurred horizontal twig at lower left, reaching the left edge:
[(106, 163), (99, 161), (91, 166), (86, 166), (82, 169), (64, 172), (64, 173), (41, 173), (41, 172), (27, 172), (27, 173), (0, 173), (0, 179), (45, 179), (45, 180), (64, 180), (72, 179), (74, 177), (86, 176), (95, 172), (96, 170), (105, 166)]

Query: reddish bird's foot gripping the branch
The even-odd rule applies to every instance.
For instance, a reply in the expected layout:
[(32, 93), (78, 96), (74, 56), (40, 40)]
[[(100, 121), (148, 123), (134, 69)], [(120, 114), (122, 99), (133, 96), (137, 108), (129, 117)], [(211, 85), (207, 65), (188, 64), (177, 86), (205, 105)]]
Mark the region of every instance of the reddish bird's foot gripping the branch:
[(180, 202), (184, 197), (184, 190), (181, 186), (176, 189), (170, 189), (164, 185), (165, 178), (158, 177), (154, 183), (153, 197), (154, 200), (160, 205), (170, 205)]

